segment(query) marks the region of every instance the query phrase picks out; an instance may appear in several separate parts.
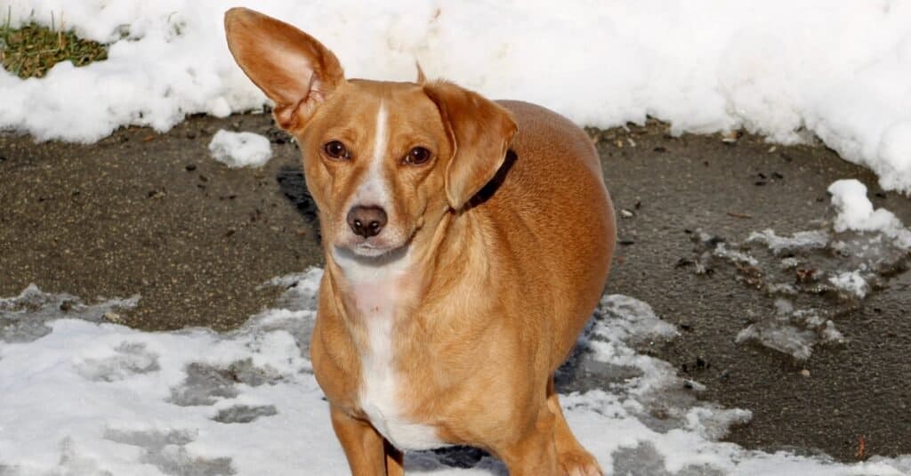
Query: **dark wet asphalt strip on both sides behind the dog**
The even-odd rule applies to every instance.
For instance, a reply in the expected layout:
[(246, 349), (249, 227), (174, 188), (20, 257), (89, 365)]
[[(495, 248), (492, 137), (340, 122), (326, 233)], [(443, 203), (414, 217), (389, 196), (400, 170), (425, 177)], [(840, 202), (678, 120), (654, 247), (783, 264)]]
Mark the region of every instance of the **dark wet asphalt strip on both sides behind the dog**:
[[(212, 160), (218, 129), (273, 142), (261, 169)], [(899, 270), (840, 315), (843, 346), (805, 361), (734, 337), (773, 301), (719, 267), (688, 265), (701, 230), (814, 229), (833, 212), (838, 179), (870, 187), (875, 206), (911, 222), (911, 202), (824, 147), (783, 147), (738, 135), (671, 137), (650, 122), (590, 130), (619, 212), (609, 293), (631, 295), (681, 329), (641, 350), (705, 385), (701, 397), (751, 409), (726, 440), (747, 448), (824, 451), (838, 460), (911, 453), (911, 276)], [(189, 118), (168, 133), (120, 129), (91, 145), (0, 134), (0, 295), (34, 283), (88, 301), (141, 295), (121, 316), (146, 330), (239, 326), (272, 305), (275, 276), (322, 265), (315, 210), (299, 152), (267, 115)], [(863, 451), (859, 451), (863, 440)]]

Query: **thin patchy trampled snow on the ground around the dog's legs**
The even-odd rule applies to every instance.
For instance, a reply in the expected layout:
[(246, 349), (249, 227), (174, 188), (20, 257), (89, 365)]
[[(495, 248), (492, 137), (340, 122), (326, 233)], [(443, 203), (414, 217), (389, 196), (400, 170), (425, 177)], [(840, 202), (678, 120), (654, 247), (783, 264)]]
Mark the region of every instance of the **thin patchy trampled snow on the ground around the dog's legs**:
[[(142, 332), (104, 321), (138, 297), (85, 305), (29, 286), (22, 295), (0, 299), (0, 473), (281, 475), (305, 468), (308, 474), (347, 474), (306, 357), (321, 276), (312, 269), (272, 280), (267, 285), (286, 288), (276, 307), (226, 334), (205, 328)], [(27, 338), (5, 332), (30, 321), (49, 332)], [(720, 442), (750, 412), (699, 401), (698, 382), (636, 350), (677, 335), (648, 304), (605, 295), (577, 352), (561, 368), (568, 422), (608, 471), (911, 471), (907, 456), (842, 464)], [(589, 377), (572, 378), (577, 373)], [(574, 385), (588, 388), (568, 388)], [(499, 461), (466, 449), (409, 453), (405, 465), (439, 476), (506, 474)]]

